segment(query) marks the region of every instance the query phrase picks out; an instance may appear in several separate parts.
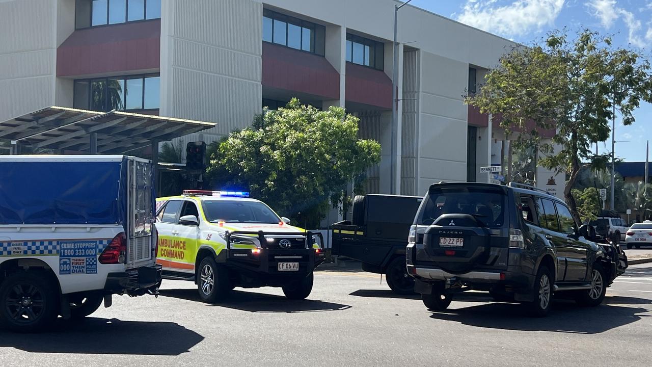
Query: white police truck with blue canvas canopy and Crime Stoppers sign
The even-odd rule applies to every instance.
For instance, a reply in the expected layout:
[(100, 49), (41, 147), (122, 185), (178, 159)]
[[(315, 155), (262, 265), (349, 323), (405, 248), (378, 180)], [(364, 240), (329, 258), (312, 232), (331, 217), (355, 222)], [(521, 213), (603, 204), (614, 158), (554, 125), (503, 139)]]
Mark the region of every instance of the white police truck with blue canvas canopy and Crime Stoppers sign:
[(156, 294), (150, 161), (123, 155), (0, 156), (0, 322), (19, 332)]

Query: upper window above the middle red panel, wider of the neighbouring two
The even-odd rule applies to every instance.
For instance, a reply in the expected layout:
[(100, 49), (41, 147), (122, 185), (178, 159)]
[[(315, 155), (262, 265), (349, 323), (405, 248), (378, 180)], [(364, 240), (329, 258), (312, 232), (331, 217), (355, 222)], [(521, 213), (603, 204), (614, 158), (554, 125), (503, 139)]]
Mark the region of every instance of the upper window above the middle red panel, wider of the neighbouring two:
[(265, 9), (263, 41), (324, 56), (326, 28)]

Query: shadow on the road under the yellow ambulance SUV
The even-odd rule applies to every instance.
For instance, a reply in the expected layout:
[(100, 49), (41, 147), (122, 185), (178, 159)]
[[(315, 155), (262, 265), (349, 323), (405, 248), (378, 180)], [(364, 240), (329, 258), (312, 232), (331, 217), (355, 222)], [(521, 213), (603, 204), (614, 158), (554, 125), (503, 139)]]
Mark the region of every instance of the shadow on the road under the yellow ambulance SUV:
[[(158, 292), (161, 296), (202, 302), (197, 294), (197, 289), (160, 289)], [(351, 306), (346, 304), (310, 299), (289, 300), (284, 296), (247, 291), (231, 291), (228, 300), (220, 302), (219, 304), (207, 304), (207, 306), (226, 307), (232, 308), (233, 310), (248, 312), (269, 313), (341, 311), (351, 308)]]

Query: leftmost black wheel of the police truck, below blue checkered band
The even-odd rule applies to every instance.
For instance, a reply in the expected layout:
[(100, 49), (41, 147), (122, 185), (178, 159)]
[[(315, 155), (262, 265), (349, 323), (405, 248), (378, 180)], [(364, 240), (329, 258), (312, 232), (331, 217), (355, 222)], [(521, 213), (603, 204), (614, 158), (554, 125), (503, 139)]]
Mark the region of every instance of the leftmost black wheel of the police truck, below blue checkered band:
[(51, 274), (19, 271), (0, 287), (0, 320), (16, 332), (36, 332), (49, 327), (59, 313), (59, 290)]

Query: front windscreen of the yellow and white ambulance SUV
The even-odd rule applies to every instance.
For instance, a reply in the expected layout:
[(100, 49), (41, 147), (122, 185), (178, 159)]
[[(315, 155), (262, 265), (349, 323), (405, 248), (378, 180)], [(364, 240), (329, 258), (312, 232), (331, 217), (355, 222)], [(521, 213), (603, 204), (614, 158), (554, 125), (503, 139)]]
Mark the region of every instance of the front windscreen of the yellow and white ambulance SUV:
[(202, 200), (206, 219), (212, 223), (278, 223), (281, 219), (269, 206), (258, 201)]

